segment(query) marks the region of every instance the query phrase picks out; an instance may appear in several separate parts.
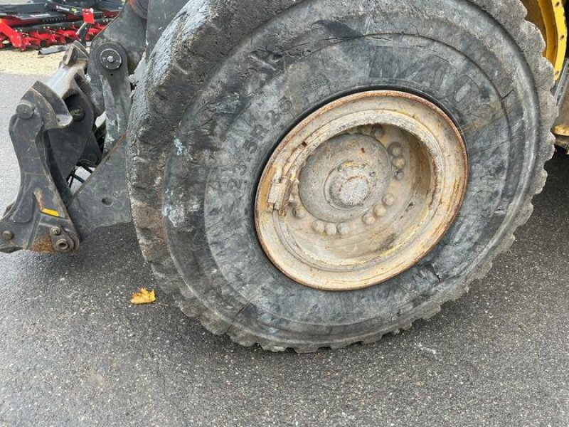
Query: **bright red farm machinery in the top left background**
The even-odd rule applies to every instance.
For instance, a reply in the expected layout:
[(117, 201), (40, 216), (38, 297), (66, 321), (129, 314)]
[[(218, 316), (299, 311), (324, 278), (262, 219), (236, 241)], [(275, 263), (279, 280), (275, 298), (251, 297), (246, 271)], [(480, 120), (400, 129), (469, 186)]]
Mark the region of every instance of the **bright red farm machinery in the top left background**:
[(121, 0), (0, 0), (0, 49), (26, 51), (90, 41), (122, 5)]

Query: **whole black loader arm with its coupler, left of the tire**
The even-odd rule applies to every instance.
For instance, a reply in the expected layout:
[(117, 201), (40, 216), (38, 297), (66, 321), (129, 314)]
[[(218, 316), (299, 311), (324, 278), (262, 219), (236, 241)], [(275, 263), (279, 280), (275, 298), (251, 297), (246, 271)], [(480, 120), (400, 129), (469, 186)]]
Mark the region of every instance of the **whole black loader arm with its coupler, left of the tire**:
[(0, 252), (75, 251), (98, 228), (131, 221), (129, 77), (185, 3), (129, 1), (90, 51), (75, 42), (55, 75), (23, 96), (9, 127), (21, 184), (0, 220)]

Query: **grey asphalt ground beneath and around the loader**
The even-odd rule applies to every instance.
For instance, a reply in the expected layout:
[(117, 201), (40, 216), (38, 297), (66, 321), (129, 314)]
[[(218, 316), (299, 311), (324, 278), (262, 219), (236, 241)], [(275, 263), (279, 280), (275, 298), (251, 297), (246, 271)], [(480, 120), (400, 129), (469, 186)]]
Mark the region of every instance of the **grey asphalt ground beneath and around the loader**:
[[(0, 74), (7, 127), (33, 76)], [(469, 295), (398, 337), (270, 354), (216, 337), (156, 282), (131, 226), (79, 253), (0, 255), (0, 426), (569, 426), (569, 158), (518, 242)]]

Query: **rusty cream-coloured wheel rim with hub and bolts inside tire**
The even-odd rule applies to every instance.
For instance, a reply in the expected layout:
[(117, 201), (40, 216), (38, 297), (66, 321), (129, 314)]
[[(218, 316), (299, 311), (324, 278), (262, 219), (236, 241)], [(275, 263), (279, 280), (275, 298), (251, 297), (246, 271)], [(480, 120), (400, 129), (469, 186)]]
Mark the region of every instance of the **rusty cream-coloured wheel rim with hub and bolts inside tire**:
[(282, 273), (359, 290), (432, 251), (462, 205), (467, 152), (422, 97), (371, 91), (321, 107), (289, 132), (262, 174), (257, 237)]

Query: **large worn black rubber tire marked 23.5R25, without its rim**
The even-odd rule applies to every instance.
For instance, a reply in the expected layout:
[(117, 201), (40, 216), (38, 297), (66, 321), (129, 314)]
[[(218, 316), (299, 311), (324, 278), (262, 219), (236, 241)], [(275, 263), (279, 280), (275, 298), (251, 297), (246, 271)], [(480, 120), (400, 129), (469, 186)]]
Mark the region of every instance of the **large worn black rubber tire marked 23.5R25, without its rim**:
[[(189, 1), (151, 54), (130, 140), (142, 251), (186, 315), (265, 349), (344, 347), (454, 300), (514, 241), (553, 154), (553, 69), (519, 0)], [(437, 248), (374, 287), (326, 292), (275, 268), (255, 235), (267, 158), (307, 113), (395, 88), (436, 102), (469, 184)]]

